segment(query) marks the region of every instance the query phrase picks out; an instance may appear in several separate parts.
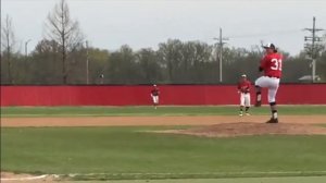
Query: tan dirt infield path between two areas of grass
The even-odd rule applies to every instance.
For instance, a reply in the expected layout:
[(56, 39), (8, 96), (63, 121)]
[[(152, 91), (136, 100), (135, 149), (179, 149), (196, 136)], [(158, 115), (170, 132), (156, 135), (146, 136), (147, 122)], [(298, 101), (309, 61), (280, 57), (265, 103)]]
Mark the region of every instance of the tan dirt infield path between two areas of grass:
[[(235, 122), (263, 123), (268, 118), (268, 115), (1, 118), (1, 126), (211, 125)], [(279, 121), (280, 123), (326, 124), (326, 115), (284, 115)]]

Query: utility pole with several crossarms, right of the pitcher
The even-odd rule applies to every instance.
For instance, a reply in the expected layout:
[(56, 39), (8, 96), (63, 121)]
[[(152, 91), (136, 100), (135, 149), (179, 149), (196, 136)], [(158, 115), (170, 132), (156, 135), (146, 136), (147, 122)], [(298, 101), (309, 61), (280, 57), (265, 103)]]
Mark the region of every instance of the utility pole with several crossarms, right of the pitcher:
[(315, 77), (316, 77), (316, 58), (317, 58), (317, 52), (321, 47), (316, 45), (316, 42), (322, 41), (322, 37), (316, 36), (316, 32), (324, 30), (322, 28), (316, 28), (315, 26), (316, 19), (315, 16), (313, 17), (313, 28), (304, 28), (304, 30), (309, 30), (312, 33), (312, 36), (304, 36), (304, 40), (311, 40), (311, 44), (305, 44), (305, 49), (308, 54), (310, 54), (310, 60), (312, 61), (312, 83), (315, 83)]

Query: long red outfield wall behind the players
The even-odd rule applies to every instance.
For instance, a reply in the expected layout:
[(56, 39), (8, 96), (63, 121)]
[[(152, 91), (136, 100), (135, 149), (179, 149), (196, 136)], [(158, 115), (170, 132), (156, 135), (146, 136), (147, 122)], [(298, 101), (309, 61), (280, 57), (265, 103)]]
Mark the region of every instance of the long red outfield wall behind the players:
[[(161, 85), (161, 105), (238, 105), (235, 85)], [(151, 105), (152, 86), (1, 86), (1, 106)], [(254, 99), (252, 88), (252, 100)], [(263, 90), (263, 102), (266, 102)], [(280, 105), (326, 105), (326, 84), (283, 84)]]

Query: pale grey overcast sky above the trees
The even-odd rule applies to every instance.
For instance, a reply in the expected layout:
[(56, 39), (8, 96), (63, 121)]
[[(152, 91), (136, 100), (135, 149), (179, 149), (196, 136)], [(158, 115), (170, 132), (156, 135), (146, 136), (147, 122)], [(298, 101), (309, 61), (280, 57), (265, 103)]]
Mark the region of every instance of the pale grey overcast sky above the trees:
[[(45, 22), (59, 0), (1, 0), (1, 20), (12, 17), (21, 50), (28, 51), (45, 37)], [(260, 41), (298, 54), (303, 28), (326, 29), (325, 0), (66, 0), (91, 46), (116, 50), (158, 48), (168, 38), (214, 44), (220, 27), (226, 47), (251, 49)], [(318, 35), (324, 35), (319, 32)]]

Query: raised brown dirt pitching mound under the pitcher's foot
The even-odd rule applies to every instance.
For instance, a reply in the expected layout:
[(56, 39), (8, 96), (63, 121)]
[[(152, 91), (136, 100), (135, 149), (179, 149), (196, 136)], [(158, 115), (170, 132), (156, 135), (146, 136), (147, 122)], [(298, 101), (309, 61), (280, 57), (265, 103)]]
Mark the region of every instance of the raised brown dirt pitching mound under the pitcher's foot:
[(326, 135), (326, 127), (297, 123), (221, 123), (189, 130), (165, 131), (165, 133), (186, 134), (205, 137), (234, 137), (244, 135)]

